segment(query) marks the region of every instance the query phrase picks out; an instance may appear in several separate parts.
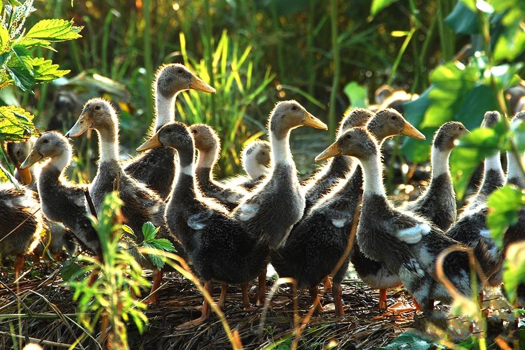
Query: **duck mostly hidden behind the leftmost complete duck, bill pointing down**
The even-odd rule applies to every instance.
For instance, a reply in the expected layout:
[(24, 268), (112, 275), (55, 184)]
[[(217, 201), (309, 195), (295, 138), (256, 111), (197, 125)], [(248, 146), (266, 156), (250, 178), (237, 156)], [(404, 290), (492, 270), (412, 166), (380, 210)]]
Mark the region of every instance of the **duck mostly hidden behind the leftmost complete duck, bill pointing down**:
[[(6, 154), (15, 166), (15, 178), (19, 183), (26, 185), (36, 192), (38, 196), (37, 178), (40, 174), (40, 167), (34, 164), (28, 168), (21, 169), (20, 166), (25, 161), (29, 152), (35, 145), (37, 137), (31, 136), (27, 140), (6, 143)], [(70, 255), (77, 250), (77, 244), (72, 239), (72, 233), (61, 222), (49, 220), (45, 215), (42, 217), (43, 231), (45, 234), (40, 236), (39, 244), (34, 249), (34, 253), (39, 257), (44, 257), (49, 253), (51, 258), (58, 259), (64, 256), (65, 252)]]

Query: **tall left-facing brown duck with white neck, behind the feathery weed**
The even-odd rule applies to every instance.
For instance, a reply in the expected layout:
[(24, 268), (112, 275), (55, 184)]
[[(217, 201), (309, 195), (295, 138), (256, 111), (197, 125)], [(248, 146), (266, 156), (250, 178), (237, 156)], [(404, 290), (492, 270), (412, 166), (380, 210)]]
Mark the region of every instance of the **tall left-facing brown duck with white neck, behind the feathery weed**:
[[(101, 98), (93, 98), (86, 102), (75, 125), (66, 133), (66, 137), (80, 136), (88, 129), (95, 129), (99, 136), (99, 164), (97, 175), (89, 186), (93, 206), (100, 213), (104, 197), (119, 190), (119, 198), (123, 202), (122, 216), (124, 223), (134, 232), (137, 243), (142, 243), (144, 235), (142, 226), (152, 222), (160, 227), (158, 237), (168, 239), (178, 254), (185, 256), (181, 243), (171, 235), (165, 225), (164, 210), (166, 204), (153, 189), (137, 181), (124, 172), (119, 163), (118, 118), (111, 103)], [(173, 171), (173, 169), (172, 169)], [(157, 174), (157, 176), (159, 176)], [(153, 269), (153, 285), (148, 303), (156, 302), (162, 281), (162, 271)]]

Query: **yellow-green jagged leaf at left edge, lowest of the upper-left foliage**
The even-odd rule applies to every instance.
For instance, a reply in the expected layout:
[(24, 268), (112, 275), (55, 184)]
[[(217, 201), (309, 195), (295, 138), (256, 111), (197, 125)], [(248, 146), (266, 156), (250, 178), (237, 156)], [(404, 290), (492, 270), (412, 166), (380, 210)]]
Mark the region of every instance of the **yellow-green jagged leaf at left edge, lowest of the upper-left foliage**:
[(0, 106), (0, 140), (22, 141), (33, 135), (35, 116), (23, 108)]

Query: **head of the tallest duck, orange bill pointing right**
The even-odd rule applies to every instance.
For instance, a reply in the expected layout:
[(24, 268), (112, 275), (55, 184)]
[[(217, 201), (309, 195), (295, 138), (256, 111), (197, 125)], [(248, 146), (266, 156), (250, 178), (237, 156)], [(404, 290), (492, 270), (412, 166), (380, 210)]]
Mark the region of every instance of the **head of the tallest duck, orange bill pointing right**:
[(216, 90), (194, 75), (189, 69), (180, 63), (171, 63), (159, 68), (156, 72), (154, 86), (164, 97), (173, 97), (176, 93), (184, 90), (199, 90), (215, 93)]

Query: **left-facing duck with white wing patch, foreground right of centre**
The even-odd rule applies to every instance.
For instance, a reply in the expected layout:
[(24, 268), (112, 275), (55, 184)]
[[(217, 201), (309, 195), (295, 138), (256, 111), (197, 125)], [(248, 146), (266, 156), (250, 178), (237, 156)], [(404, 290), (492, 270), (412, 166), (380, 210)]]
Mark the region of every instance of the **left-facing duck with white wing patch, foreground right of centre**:
[[(434, 311), (434, 300), (451, 301), (448, 290), (434, 277), (436, 259), (445, 249), (465, 247), (423, 216), (394, 208), (383, 185), (379, 144), (365, 128), (347, 130), (316, 159), (337, 154), (357, 158), (363, 169), (363, 199), (356, 230), (362, 252), (367, 258), (384, 263), (400, 278), (425, 315), (436, 325), (446, 327), (446, 320)], [(465, 251), (453, 250), (443, 261), (445, 276), (465, 296), (472, 295), (468, 260)], [(481, 285), (476, 278), (477, 285)]]

